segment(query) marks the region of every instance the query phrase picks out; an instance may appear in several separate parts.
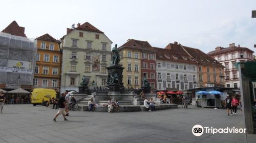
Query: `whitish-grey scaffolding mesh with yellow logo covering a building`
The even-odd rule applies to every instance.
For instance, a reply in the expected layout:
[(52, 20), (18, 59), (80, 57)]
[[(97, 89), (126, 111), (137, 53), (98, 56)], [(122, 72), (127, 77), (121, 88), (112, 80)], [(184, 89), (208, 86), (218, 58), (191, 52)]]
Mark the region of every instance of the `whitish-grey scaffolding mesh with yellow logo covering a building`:
[(32, 85), (36, 41), (0, 32), (0, 83)]

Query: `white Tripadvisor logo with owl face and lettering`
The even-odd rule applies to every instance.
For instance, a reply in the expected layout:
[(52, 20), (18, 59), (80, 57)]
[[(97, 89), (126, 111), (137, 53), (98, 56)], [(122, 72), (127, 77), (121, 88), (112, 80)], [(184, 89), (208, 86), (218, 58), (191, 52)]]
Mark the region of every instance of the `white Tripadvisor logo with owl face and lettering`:
[(216, 133), (246, 133), (246, 128), (213, 128), (213, 127), (203, 127), (201, 125), (195, 125), (192, 128), (192, 133), (195, 136), (201, 136), (203, 133), (210, 133), (210, 134), (216, 134)]

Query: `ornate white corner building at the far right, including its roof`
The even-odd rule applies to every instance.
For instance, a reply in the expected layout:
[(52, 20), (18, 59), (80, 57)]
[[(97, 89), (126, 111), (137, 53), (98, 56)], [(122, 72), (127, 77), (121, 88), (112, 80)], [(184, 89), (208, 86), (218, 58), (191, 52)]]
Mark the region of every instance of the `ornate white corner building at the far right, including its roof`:
[(235, 63), (253, 61), (253, 51), (247, 47), (235, 46), (234, 43), (229, 44), (229, 47), (218, 46), (215, 51), (208, 53), (209, 56), (219, 61), (225, 70), (225, 87), (240, 88), (239, 70), (234, 66)]

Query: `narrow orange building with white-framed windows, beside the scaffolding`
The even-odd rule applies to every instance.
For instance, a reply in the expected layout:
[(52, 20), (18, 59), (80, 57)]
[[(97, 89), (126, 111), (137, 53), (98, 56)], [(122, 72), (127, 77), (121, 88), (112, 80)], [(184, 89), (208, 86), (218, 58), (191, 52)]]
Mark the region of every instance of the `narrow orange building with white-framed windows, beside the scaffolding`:
[(33, 88), (49, 88), (59, 92), (61, 52), (59, 41), (49, 34), (37, 40), (37, 54)]

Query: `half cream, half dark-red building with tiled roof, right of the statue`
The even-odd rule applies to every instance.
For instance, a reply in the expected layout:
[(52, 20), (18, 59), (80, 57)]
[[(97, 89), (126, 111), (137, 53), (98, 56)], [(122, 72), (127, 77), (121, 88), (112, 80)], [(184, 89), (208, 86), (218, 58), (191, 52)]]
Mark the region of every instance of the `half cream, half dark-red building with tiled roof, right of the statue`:
[(125, 87), (140, 88), (143, 77), (150, 82), (151, 89), (156, 89), (156, 55), (154, 48), (147, 41), (129, 39), (119, 47), (121, 64), (124, 69)]

